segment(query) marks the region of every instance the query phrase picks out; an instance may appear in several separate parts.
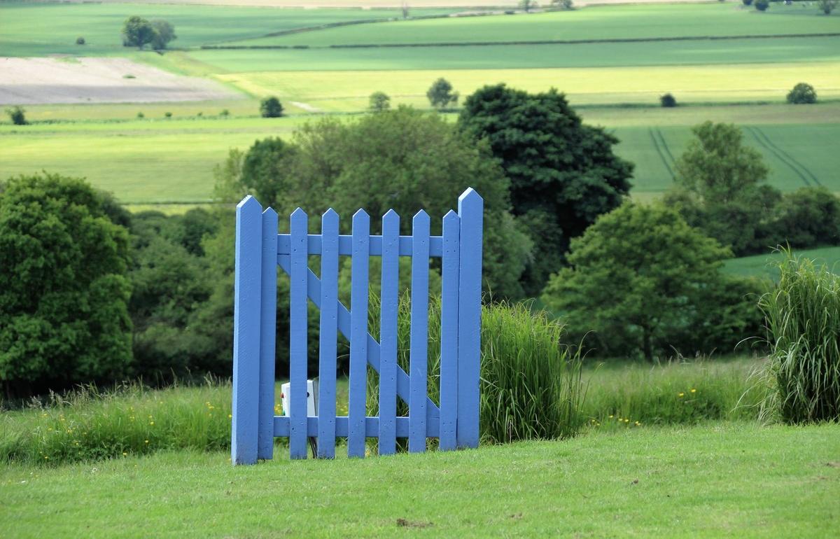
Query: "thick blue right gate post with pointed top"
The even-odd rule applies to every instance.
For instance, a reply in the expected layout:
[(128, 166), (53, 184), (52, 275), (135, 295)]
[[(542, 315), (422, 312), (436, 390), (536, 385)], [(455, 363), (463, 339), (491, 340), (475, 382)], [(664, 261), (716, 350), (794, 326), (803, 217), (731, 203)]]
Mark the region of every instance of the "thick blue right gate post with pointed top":
[(481, 241), (484, 200), (471, 187), (458, 198), (458, 447), (478, 447), (481, 347)]

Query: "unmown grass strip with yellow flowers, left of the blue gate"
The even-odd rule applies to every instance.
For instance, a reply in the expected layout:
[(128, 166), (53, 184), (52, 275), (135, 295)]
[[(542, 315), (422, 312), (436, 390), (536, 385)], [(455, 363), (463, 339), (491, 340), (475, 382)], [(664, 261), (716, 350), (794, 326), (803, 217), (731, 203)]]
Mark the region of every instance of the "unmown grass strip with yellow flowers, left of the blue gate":
[(70, 463), (230, 447), (230, 384), (83, 387), (0, 416), (0, 463)]

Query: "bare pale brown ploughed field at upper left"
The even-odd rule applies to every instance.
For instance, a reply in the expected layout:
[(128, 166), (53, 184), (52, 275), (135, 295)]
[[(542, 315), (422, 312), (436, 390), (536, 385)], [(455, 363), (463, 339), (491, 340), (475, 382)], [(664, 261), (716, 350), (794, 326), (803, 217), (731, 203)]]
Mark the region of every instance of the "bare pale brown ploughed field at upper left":
[(0, 58), (0, 105), (204, 101), (239, 94), (218, 82), (126, 58)]

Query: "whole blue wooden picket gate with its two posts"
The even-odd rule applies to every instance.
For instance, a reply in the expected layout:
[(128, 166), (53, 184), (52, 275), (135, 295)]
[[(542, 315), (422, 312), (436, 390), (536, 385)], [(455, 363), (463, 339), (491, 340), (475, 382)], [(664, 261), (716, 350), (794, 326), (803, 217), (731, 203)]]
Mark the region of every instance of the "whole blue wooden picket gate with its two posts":
[[(307, 458), (307, 438), (318, 438), (318, 457), (335, 456), (336, 437), (347, 437), (350, 457), (365, 456), (365, 438), (379, 438), (379, 453), (396, 451), (408, 438), (409, 452), (426, 450), (437, 437), (444, 450), (477, 447), (481, 316), (481, 238), (484, 201), (472, 189), (458, 199), (458, 212), (443, 219), (443, 236), (429, 235), (422, 210), (412, 235), (400, 235), (400, 216), (382, 217), (382, 234), (370, 235), (370, 217), (353, 216), (352, 235), (339, 235), (339, 215), (321, 217), (321, 233), (309, 234), (307, 214), (297, 208), (290, 233), (278, 234), (277, 214), (247, 196), (236, 208), (234, 303), (234, 464), (271, 458), (275, 437), (289, 438), (291, 458)], [(321, 257), (321, 278), (309, 270)], [(351, 298), (339, 301), (339, 256), (352, 257)], [(369, 258), (380, 256), (380, 341), (368, 332)], [(397, 357), (398, 257), (412, 257), (409, 372)], [(440, 402), (428, 398), (428, 259), (441, 261)], [(290, 410), (275, 416), (277, 266), (290, 283)], [(320, 309), (318, 416), (307, 416), (307, 300)], [(350, 342), (347, 416), (335, 414), (338, 332)], [(365, 413), (367, 365), (379, 373), (379, 416)], [(396, 416), (396, 399), (408, 416)]]

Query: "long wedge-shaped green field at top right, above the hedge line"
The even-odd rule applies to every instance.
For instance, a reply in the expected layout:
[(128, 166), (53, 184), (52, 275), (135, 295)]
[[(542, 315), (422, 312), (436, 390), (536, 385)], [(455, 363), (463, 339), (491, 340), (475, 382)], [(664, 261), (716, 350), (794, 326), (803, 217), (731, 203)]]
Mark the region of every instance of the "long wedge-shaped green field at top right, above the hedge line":
[(818, 34), (840, 32), (840, 13), (774, 4), (768, 13), (732, 3), (647, 4), (533, 13), (512, 17), (445, 18), (328, 29), (252, 39), (244, 44), (395, 44), (635, 39), (707, 35)]

